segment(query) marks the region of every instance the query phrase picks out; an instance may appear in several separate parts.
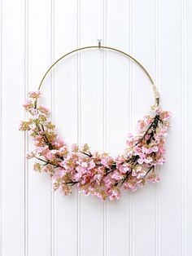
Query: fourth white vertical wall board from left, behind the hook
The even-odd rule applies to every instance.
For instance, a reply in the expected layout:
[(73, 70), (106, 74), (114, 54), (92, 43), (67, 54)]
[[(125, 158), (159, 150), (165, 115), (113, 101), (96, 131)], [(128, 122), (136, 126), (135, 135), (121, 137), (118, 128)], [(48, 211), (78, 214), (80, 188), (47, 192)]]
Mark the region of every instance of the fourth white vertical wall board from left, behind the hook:
[[(97, 44), (98, 31), (103, 32), (103, 1), (81, 0), (79, 46)], [(91, 66), (90, 66), (91, 63)], [(81, 108), (80, 143), (103, 150), (103, 53), (83, 51), (79, 68)], [(103, 255), (103, 202), (80, 195), (81, 255)], [(97, 223), (95, 225), (95, 223)], [(97, 241), (97, 246), (94, 242)], [(91, 252), (91, 253), (90, 253)]]

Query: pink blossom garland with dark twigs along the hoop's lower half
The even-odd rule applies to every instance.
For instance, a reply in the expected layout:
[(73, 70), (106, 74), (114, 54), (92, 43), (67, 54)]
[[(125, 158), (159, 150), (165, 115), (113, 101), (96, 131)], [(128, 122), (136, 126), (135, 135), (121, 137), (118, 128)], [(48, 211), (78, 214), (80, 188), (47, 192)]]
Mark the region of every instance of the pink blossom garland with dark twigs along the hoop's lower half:
[(129, 135), (124, 154), (114, 159), (107, 152), (90, 151), (87, 143), (81, 147), (72, 144), (70, 150), (48, 120), (49, 110), (37, 107), (39, 97), (40, 91), (29, 93), (24, 108), (31, 117), (20, 123), (20, 130), (33, 137), (35, 149), (28, 152), (27, 158), (37, 159), (34, 170), (50, 174), (54, 191), (60, 190), (68, 196), (76, 184), (85, 195), (113, 201), (120, 198), (122, 187), (134, 192), (146, 182), (159, 181), (155, 166), (164, 164), (164, 138), (170, 126), (170, 112), (152, 106), (151, 115), (137, 123), (138, 135)]

